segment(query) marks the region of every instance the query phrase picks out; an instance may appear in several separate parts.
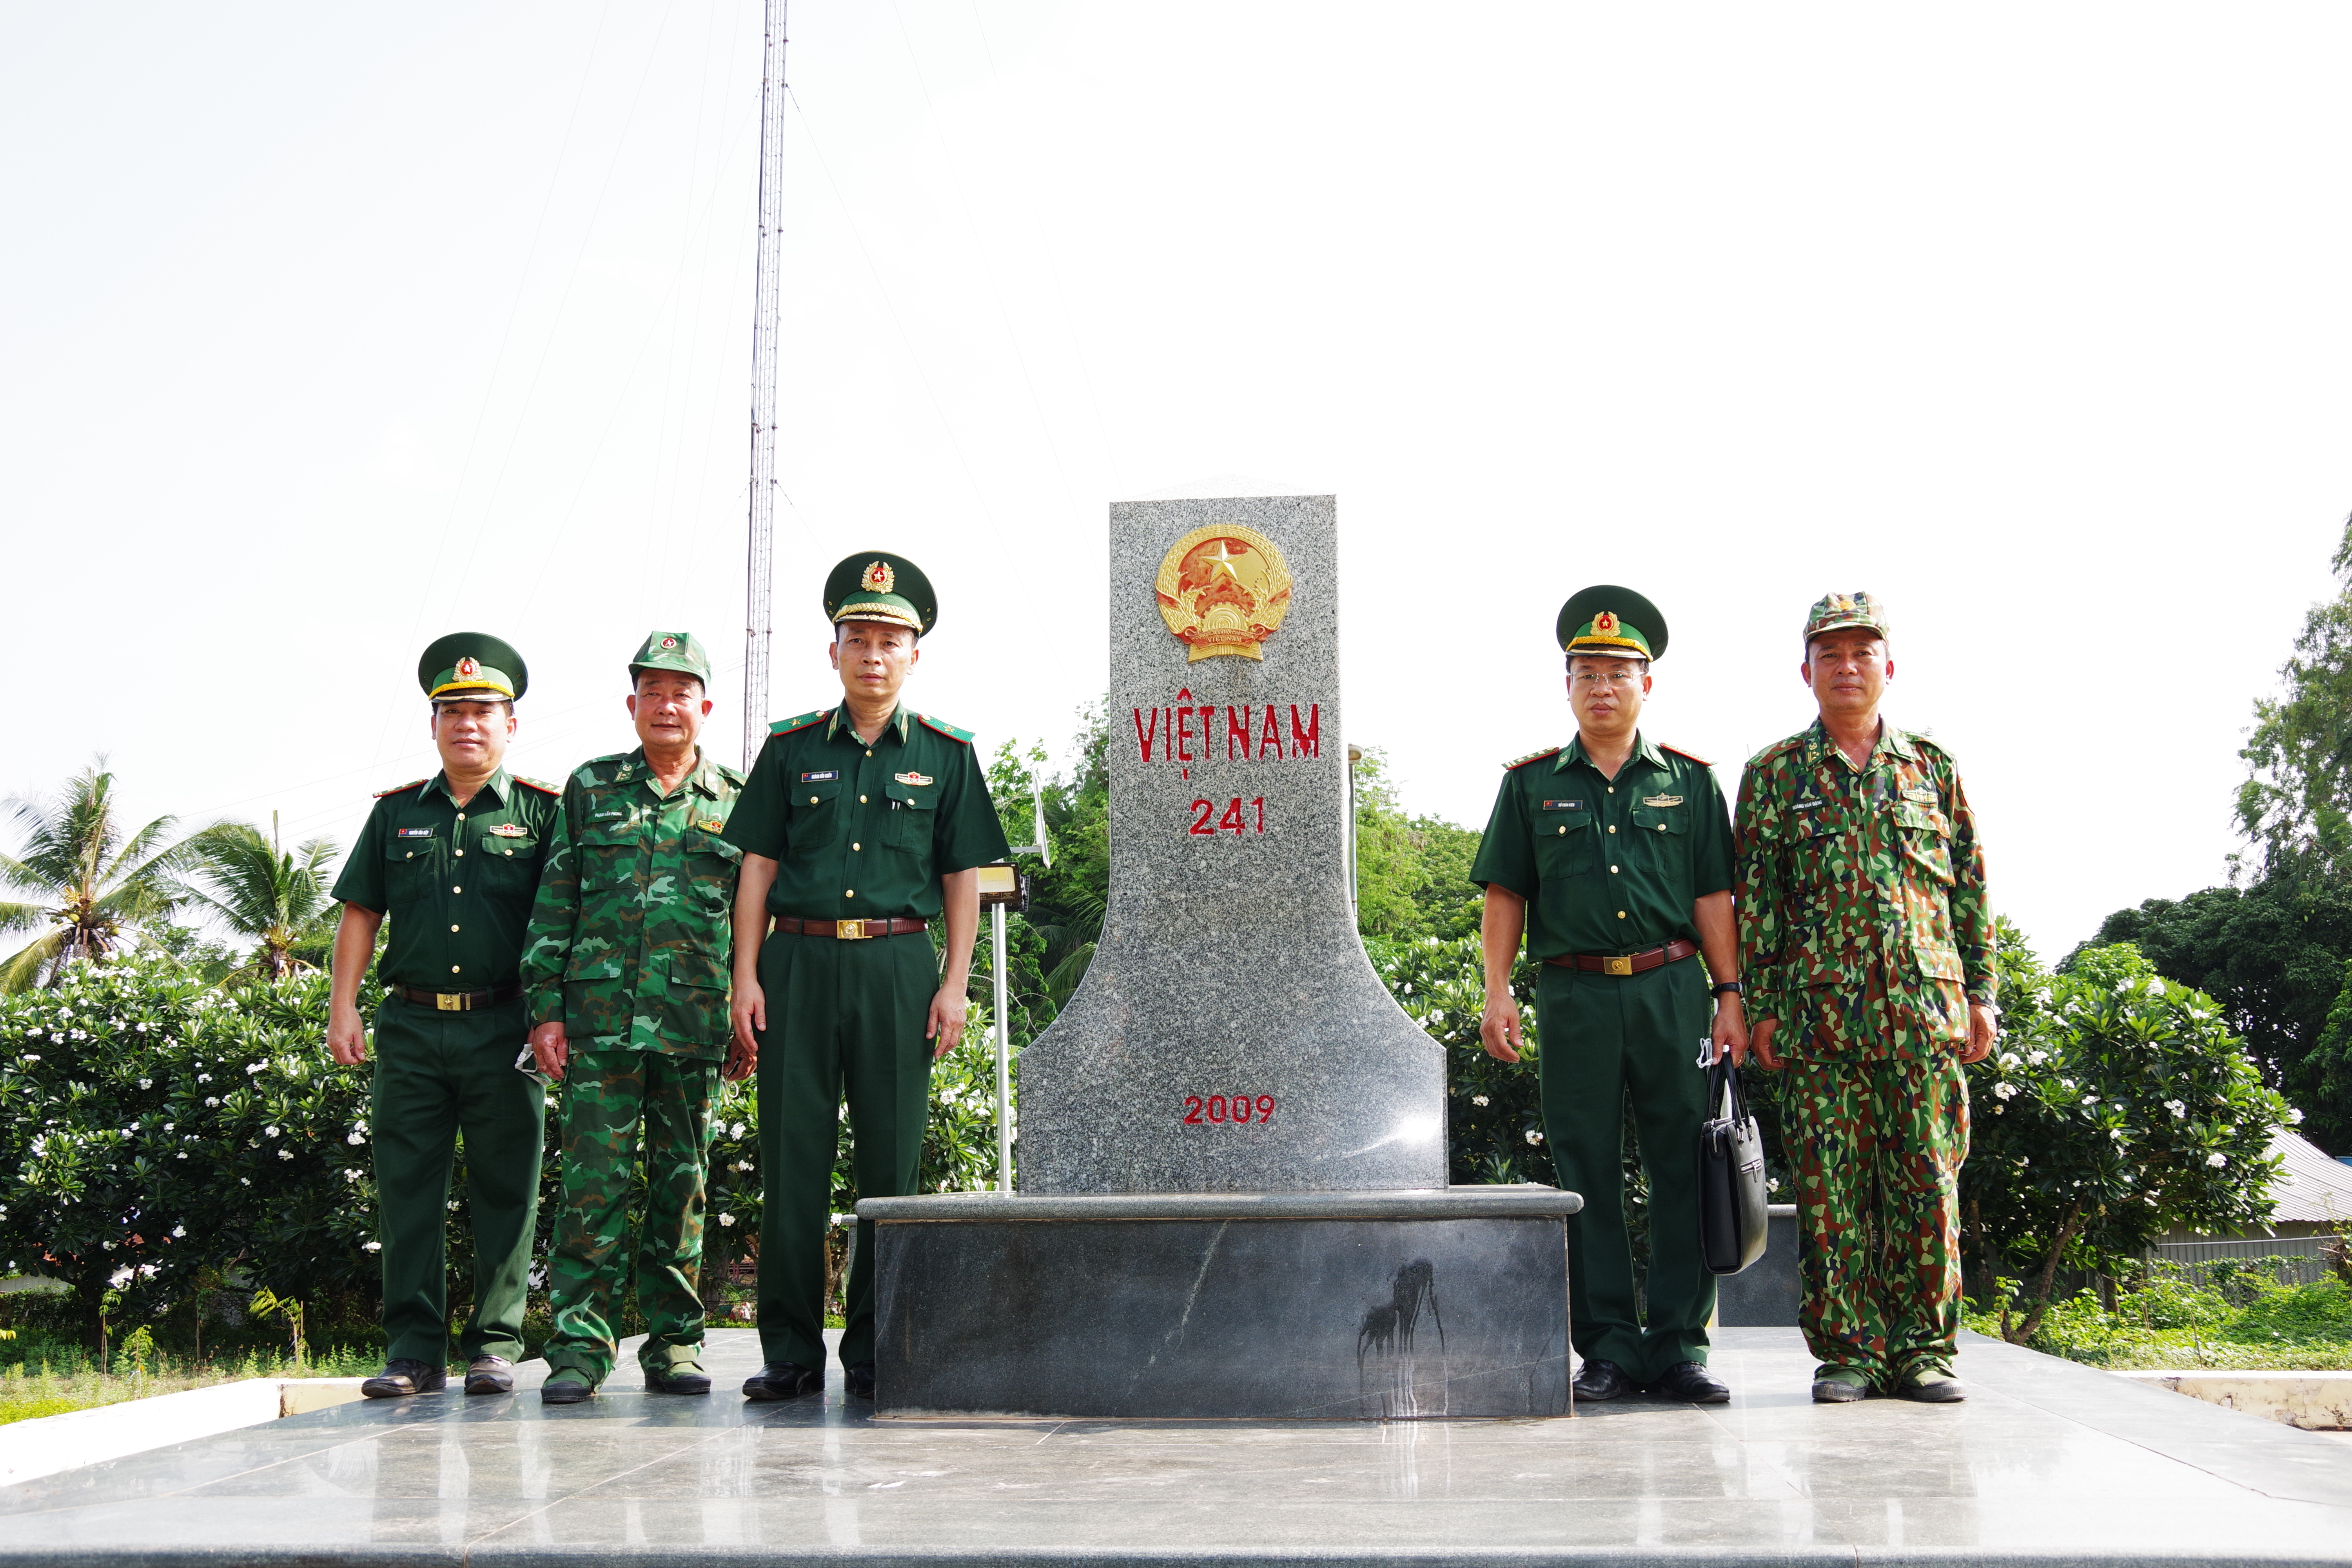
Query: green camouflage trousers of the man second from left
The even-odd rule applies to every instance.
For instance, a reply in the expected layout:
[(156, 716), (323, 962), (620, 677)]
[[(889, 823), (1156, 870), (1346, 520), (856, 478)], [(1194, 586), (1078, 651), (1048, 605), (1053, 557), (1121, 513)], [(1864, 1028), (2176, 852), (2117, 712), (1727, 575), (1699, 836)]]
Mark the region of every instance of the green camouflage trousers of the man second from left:
[(637, 1222), (637, 1363), (668, 1371), (703, 1342), (703, 1185), (720, 1065), (668, 1051), (574, 1051), (564, 1070), (562, 1213), (548, 1253), (555, 1338), (548, 1371), (604, 1382), (619, 1356), (614, 1298), (626, 1288), (628, 1197), (644, 1128), (644, 1218)]

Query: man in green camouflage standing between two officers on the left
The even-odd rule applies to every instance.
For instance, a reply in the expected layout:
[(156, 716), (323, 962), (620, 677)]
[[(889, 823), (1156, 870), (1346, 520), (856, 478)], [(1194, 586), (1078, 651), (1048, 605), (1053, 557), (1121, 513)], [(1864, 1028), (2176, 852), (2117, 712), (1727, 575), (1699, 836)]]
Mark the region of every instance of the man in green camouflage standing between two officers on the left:
[[(567, 1084), (546, 1403), (579, 1403), (612, 1375), (640, 1124), (637, 1363), (654, 1394), (710, 1392), (703, 1180), (731, 1037), (729, 919), (743, 858), (717, 835), (743, 776), (694, 743), (710, 717), (710, 661), (691, 635), (647, 635), (628, 672), (640, 745), (581, 764), (564, 785), (522, 952), (532, 1053)], [(743, 1072), (748, 1063), (734, 1077)]]

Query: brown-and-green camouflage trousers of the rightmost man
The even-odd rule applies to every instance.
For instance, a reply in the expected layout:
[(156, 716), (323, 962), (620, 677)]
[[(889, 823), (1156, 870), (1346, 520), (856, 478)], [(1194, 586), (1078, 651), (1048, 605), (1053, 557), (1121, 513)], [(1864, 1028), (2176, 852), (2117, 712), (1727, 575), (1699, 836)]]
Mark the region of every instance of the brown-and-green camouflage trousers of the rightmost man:
[(1797, 1175), (1797, 1326), (1823, 1366), (1893, 1387), (1959, 1340), (1959, 1058), (1790, 1063), (1780, 1147)]

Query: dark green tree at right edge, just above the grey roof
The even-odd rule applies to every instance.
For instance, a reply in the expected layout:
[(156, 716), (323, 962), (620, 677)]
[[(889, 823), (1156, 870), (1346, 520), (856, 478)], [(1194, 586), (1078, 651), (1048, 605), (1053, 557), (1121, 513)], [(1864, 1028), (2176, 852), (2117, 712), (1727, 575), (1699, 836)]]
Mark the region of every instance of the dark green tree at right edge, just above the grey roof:
[(2117, 910), (2077, 954), (2112, 943), (2213, 997), (2270, 1084), (2310, 1114), (2312, 1138), (2352, 1147), (2352, 1030), (2328, 1034), (2331, 1016), (2352, 1011), (2352, 884), (2296, 860), (2244, 889)]

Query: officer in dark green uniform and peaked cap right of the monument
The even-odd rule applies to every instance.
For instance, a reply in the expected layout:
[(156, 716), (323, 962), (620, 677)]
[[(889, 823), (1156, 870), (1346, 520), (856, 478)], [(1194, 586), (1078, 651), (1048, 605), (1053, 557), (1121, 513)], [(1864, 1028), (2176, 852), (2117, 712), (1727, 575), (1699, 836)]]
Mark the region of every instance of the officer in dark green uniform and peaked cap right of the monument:
[[(1651, 1392), (1717, 1403), (1708, 1371), (1715, 1276), (1698, 1253), (1705, 1060), (1745, 1051), (1731, 914), (1731, 813), (1712, 769), (1642, 736), (1665, 616), (1628, 588), (1559, 611), (1576, 738), (1508, 764), (1470, 879), (1486, 889), (1489, 1056), (1519, 1060), (1510, 969), (1543, 961), (1543, 1133), (1569, 1220), (1569, 1338), (1578, 1399)], [(1719, 1001), (1691, 959), (1705, 954)], [(1635, 1305), (1623, 1140), (1632, 1110), (1649, 1173), (1649, 1321)]]

